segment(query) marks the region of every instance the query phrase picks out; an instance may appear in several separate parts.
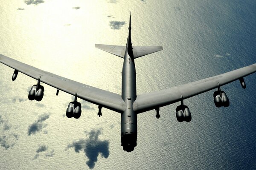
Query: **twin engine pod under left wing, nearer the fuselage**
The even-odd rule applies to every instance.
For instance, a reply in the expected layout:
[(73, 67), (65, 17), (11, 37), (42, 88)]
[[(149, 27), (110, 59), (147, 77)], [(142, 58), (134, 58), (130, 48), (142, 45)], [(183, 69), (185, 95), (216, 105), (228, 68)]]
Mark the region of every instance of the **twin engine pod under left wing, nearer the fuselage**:
[(66, 116), (68, 118), (74, 117), (74, 118), (78, 119), (82, 113), (81, 108), (82, 108), (81, 103), (74, 102), (74, 101), (70, 102), (70, 104), (67, 107)]

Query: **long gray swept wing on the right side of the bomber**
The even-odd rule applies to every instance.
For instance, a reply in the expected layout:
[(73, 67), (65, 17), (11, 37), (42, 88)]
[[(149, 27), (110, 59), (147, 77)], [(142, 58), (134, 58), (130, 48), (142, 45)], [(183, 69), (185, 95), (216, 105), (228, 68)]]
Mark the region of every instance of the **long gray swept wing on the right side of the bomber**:
[(133, 108), (136, 113), (150, 111), (180, 101), (181, 94), (183, 99), (186, 99), (217, 88), (218, 82), (220, 85), (225, 85), (254, 72), (256, 72), (256, 64), (177, 87), (141, 94), (137, 96)]

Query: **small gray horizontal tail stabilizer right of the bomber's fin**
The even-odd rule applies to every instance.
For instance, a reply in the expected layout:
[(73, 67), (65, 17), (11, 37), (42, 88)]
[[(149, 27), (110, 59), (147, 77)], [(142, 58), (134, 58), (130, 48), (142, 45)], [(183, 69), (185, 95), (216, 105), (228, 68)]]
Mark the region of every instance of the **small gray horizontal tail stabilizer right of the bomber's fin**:
[(154, 47), (139, 47), (134, 46), (133, 48), (133, 54), (134, 59), (163, 50), (163, 47), (161, 46), (154, 46)]

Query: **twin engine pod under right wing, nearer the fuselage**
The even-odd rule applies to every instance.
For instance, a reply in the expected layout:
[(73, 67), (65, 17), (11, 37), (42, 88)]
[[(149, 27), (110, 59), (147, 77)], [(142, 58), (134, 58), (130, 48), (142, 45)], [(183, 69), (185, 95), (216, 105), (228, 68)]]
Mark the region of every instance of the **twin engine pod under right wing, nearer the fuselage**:
[(186, 105), (179, 105), (176, 108), (176, 118), (178, 122), (183, 122), (184, 120), (186, 122), (190, 122), (192, 119), (191, 113), (189, 111), (189, 107)]

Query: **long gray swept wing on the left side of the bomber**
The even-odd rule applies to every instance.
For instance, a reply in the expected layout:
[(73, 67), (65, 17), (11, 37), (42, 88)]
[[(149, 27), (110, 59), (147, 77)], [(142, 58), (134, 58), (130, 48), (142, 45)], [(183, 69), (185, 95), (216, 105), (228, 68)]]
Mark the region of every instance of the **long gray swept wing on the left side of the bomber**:
[(102, 107), (108, 108), (112, 111), (121, 113), (125, 107), (125, 103), (119, 94), (66, 79), (64, 77), (32, 67), (23, 62), (19, 62), (15, 59), (6, 57), (2, 54), (0, 54), (0, 62), (34, 79), (38, 79), (39, 76), (41, 76), (41, 82), (44, 82), (45, 84), (61, 91), (72, 95), (75, 95), (77, 91), (77, 96), (80, 99), (84, 99), (96, 105), (101, 105)]

